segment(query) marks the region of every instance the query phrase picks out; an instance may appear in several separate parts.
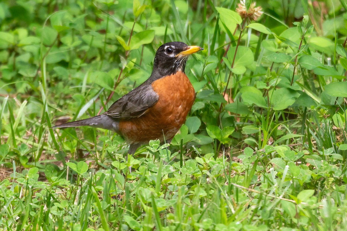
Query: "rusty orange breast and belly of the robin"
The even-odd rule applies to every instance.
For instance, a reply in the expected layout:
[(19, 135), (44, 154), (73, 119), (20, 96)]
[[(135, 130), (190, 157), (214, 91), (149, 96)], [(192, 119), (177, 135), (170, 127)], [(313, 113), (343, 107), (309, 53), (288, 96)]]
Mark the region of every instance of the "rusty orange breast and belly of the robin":
[(130, 144), (171, 140), (194, 103), (195, 91), (184, 73), (158, 79), (152, 88), (159, 95), (158, 102), (146, 114), (119, 122), (119, 131)]

